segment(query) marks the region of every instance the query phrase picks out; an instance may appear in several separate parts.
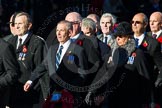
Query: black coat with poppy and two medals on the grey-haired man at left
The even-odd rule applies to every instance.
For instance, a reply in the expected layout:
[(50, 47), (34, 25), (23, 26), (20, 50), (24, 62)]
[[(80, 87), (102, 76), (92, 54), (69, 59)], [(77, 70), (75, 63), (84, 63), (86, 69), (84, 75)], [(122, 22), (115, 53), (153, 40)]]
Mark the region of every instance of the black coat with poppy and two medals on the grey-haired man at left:
[[(18, 81), (12, 87), (11, 106), (31, 108), (33, 104), (39, 102), (40, 86), (39, 82), (35, 85), (34, 90), (31, 89), (25, 93), (23, 86), (31, 75), (31, 72), (41, 64), (44, 56), (44, 40), (32, 33), (29, 33), (24, 43), (16, 49), (18, 37), (14, 36), (8, 41), (14, 46), (16, 58), (19, 64), (20, 76)], [(40, 79), (42, 83), (43, 79)]]

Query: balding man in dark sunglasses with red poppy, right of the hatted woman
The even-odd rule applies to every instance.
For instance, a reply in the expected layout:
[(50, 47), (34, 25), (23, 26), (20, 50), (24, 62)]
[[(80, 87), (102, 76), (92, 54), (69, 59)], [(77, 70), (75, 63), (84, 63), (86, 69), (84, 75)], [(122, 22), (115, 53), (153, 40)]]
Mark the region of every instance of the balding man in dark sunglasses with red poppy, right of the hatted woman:
[[(146, 27), (148, 25), (148, 18), (144, 13), (137, 13), (132, 18), (132, 30), (134, 32), (134, 38), (138, 39), (137, 48), (140, 48), (144, 51), (145, 57), (149, 63), (149, 74), (150, 74), (150, 81), (147, 83), (141, 82), (142, 90), (143, 90), (143, 103), (147, 105), (154, 104), (154, 83), (155, 86), (158, 87), (162, 84), (162, 55), (160, 51), (160, 44), (156, 41), (156, 39), (149, 37), (146, 34)], [(158, 75), (157, 79), (154, 79), (154, 66), (157, 66), (160, 70), (160, 74)], [(155, 81), (156, 80), (156, 81)], [(149, 86), (151, 85), (151, 87)], [(150, 104), (151, 103), (151, 104)]]

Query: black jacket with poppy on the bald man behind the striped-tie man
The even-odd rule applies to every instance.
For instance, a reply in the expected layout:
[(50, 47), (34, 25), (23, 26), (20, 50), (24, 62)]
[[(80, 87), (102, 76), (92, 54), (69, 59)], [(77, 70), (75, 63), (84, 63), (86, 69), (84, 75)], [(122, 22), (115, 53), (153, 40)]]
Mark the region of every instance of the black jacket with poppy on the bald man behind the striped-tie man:
[(89, 73), (86, 76), (86, 85), (89, 86), (97, 74), (98, 69), (102, 65), (102, 58), (100, 56), (99, 50), (96, 47), (97, 43), (82, 33), (80, 33), (79, 37), (75, 40), (75, 43), (82, 46), (85, 49), (85, 53), (87, 55)]

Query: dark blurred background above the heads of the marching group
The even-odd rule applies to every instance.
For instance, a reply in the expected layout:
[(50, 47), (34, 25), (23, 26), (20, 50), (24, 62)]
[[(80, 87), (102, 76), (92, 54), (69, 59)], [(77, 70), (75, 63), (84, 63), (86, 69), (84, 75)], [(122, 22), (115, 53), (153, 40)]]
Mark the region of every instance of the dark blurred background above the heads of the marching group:
[(137, 12), (144, 12), (149, 17), (152, 12), (161, 11), (161, 5), (160, 0), (0, 0), (0, 37), (10, 34), (7, 22), (16, 11), (29, 13), (33, 32), (46, 39), (57, 22), (71, 11), (83, 17), (109, 12), (120, 22), (130, 21)]

